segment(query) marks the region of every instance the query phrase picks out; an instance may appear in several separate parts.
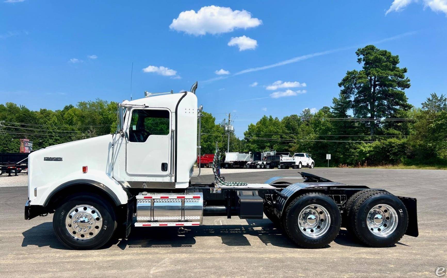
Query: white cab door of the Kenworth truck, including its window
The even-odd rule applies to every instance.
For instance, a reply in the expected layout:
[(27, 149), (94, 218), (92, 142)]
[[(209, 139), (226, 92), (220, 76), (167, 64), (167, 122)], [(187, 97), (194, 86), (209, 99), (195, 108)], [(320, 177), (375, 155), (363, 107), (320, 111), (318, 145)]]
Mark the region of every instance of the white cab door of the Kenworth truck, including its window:
[(128, 124), (126, 172), (168, 176), (172, 163), (172, 119), (167, 108), (133, 108)]

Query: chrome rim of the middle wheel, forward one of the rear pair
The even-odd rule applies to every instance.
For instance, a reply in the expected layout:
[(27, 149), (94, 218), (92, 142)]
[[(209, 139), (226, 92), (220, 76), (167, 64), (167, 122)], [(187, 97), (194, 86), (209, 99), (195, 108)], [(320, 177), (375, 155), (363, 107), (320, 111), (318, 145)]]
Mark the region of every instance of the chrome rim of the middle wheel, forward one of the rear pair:
[(304, 207), (299, 212), (299, 229), (304, 235), (312, 238), (324, 235), (331, 225), (331, 216), (328, 210), (317, 204)]

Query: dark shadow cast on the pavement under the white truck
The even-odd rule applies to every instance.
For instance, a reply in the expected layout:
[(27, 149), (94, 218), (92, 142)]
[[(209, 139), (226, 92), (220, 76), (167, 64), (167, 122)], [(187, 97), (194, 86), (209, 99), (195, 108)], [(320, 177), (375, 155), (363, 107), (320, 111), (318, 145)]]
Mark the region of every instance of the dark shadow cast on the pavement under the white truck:
[[(299, 247), (283, 233), (281, 228), (271, 223), (270, 220), (248, 220), (247, 222), (248, 224), (246, 225), (201, 225), (198, 227), (182, 228), (133, 227), (128, 239), (112, 240), (101, 247), (101, 249), (107, 249), (113, 245), (117, 245), (123, 250), (126, 248), (185, 248), (195, 245), (196, 238), (200, 237), (220, 237), (222, 244), (227, 246), (252, 246), (249, 238), (258, 237), (266, 246), (273, 245), (282, 248), (299, 249)], [(45, 222), (26, 230), (22, 233), (23, 241), (21, 246), (49, 246), (54, 249), (67, 250), (67, 248), (57, 240), (52, 226), (51, 222)], [(356, 241), (354, 236), (344, 229), (340, 231), (334, 242), (339, 245), (369, 248)], [(392, 245), (392, 247), (395, 246), (396, 245)], [(330, 245), (325, 248), (329, 247)]]

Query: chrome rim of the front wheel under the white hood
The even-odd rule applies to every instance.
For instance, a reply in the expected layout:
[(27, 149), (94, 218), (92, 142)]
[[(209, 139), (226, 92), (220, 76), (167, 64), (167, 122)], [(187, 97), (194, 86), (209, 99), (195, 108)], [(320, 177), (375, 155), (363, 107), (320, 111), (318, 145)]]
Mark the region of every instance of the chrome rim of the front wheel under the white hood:
[(102, 216), (95, 207), (78, 205), (65, 218), (65, 226), (72, 237), (89, 239), (95, 237), (102, 228)]

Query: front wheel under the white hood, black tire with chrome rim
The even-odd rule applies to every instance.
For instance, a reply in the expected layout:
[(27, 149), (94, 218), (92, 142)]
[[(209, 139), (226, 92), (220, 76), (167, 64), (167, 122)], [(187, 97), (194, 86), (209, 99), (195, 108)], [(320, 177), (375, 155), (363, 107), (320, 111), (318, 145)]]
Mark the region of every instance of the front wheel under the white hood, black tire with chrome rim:
[(56, 237), (70, 249), (100, 248), (112, 238), (116, 227), (113, 207), (91, 193), (63, 200), (53, 216)]

